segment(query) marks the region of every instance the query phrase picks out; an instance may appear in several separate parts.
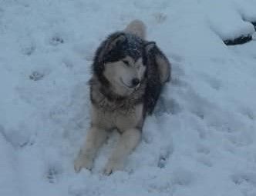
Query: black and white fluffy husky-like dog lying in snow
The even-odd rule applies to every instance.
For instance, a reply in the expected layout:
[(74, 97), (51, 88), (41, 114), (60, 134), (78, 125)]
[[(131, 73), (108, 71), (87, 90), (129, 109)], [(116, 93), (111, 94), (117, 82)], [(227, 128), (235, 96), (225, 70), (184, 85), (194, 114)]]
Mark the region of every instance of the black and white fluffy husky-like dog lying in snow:
[(146, 26), (130, 22), (99, 45), (89, 80), (91, 124), (74, 168), (91, 170), (96, 153), (111, 131), (120, 132), (103, 173), (123, 170), (127, 156), (140, 143), (143, 122), (151, 115), (171, 65), (155, 42), (145, 38)]

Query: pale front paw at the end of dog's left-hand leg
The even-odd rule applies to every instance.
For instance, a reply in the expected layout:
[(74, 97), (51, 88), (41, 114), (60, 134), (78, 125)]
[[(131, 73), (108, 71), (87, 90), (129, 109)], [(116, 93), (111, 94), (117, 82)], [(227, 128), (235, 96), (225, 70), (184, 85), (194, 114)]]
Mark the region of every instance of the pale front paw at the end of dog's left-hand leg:
[(74, 163), (74, 169), (78, 173), (82, 168), (92, 170), (93, 168), (93, 158), (89, 158), (85, 154), (79, 154)]

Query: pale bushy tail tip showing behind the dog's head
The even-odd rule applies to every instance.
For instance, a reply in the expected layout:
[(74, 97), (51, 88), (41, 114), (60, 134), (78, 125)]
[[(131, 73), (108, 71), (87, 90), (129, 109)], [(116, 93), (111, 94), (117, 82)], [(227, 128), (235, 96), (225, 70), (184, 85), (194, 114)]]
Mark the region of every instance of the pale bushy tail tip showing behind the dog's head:
[(126, 26), (124, 32), (133, 33), (144, 39), (146, 38), (146, 25), (144, 25), (144, 23), (140, 20), (134, 20)]

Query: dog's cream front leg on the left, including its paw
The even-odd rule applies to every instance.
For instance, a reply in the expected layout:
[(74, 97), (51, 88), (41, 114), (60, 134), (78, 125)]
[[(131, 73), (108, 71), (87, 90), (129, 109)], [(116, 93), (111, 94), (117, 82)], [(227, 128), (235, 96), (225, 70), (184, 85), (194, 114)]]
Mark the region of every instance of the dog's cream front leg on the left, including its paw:
[(79, 172), (82, 168), (91, 170), (93, 168), (93, 159), (99, 147), (106, 140), (107, 132), (101, 128), (92, 127), (86, 135), (86, 142), (80, 149), (78, 157), (75, 160), (74, 168)]

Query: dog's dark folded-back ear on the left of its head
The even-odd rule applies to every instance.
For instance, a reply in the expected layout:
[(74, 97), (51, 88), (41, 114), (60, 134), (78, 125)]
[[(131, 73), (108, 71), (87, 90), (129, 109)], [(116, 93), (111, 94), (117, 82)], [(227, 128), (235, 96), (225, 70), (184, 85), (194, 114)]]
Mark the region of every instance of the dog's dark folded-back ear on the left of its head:
[(123, 42), (126, 42), (126, 35), (122, 32), (115, 33), (110, 35), (106, 40), (105, 45), (103, 45), (102, 50), (99, 53), (99, 61), (103, 60), (104, 55), (108, 54), (109, 51), (112, 51), (113, 48), (116, 48), (119, 45), (122, 45)]

